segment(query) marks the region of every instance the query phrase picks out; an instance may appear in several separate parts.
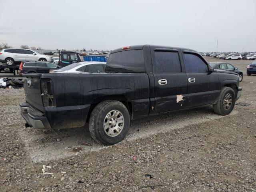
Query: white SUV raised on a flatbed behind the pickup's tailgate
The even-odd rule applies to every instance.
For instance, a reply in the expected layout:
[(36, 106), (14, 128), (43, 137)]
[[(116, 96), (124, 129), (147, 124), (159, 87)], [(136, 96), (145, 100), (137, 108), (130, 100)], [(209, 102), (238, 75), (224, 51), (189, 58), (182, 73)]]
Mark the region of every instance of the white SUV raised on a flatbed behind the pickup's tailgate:
[(0, 52), (0, 62), (7, 65), (20, 64), (21, 61), (48, 61), (53, 62), (53, 58), (40, 54), (36, 51), (21, 48), (3, 49)]

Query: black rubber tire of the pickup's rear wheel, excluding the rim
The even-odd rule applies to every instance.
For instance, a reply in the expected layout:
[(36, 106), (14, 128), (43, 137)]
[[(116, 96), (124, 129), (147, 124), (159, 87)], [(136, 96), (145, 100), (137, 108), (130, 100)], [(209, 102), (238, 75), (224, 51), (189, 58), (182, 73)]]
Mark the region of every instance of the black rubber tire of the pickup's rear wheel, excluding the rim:
[[(109, 136), (106, 133), (108, 129), (106, 129), (106, 131), (104, 130), (104, 122), (105, 123), (109, 122), (109, 121), (106, 121), (106, 115), (109, 114), (112, 110), (118, 110), (122, 114), (123, 121), (124, 121), (121, 132), (120, 133), (116, 132), (115, 133), (117, 134), (116, 136)], [(108, 126), (108, 124), (106, 126)], [(116, 123), (114, 126), (116, 126)], [(129, 126), (130, 126), (129, 112), (126, 106), (124, 106), (124, 104), (122, 104), (119, 101), (114, 101), (114, 100), (103, 101), (99, 103), (92, 110), (92, 113), (90, 115), (90, 120), (89, 120), (90, 134), (96, 142), (101, 144), (113, 145), (120, 142), (126, 136)]]

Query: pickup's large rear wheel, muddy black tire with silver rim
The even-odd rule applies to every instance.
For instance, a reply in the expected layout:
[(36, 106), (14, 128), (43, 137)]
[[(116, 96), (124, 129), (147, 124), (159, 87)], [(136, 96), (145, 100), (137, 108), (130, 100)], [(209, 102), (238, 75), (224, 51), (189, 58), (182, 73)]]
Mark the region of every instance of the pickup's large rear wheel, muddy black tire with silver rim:
[(130, 126), (129, 112), (119, 101), (106, 100), (91, 113), (89, 131), (92, 138), (101, 144), (113, 145), (124, 139)]

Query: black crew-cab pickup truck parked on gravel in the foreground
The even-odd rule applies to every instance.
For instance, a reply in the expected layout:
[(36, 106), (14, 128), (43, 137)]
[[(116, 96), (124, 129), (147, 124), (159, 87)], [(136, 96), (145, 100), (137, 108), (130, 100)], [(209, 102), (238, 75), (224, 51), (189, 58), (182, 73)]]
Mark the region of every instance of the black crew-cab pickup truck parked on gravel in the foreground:
[(81, 127), (92, 138), (120, 142), (130, 119), (213, 105), (227, 115), (240, 97), (238, 74), (213, 70), (198, 52), (176, 47), (138, 45), (111, 52), (106, 72), (24, 74), (26, 126)]

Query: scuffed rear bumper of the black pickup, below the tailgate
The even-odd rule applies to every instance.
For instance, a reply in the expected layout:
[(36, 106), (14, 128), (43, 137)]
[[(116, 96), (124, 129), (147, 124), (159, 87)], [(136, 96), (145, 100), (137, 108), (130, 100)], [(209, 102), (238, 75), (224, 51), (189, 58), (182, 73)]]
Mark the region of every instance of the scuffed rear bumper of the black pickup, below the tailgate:
[(20, 103), (20, 112), (29, 126), (39, 129), (51, 129), (48, 119), (44, 114), (33, 108), (30, 104)]

